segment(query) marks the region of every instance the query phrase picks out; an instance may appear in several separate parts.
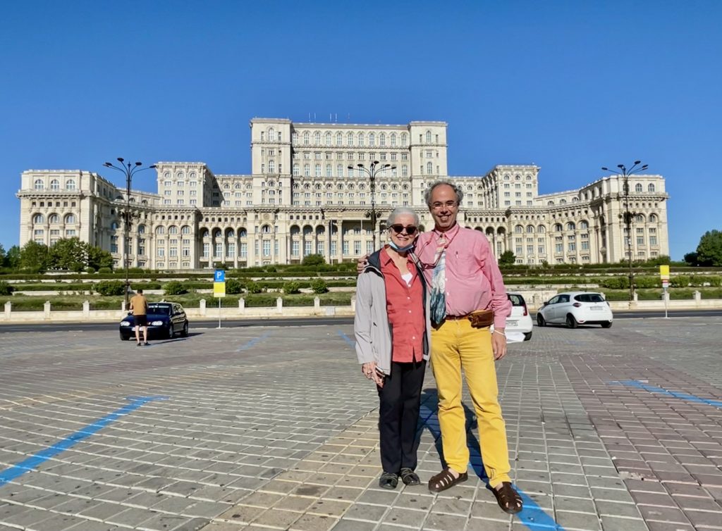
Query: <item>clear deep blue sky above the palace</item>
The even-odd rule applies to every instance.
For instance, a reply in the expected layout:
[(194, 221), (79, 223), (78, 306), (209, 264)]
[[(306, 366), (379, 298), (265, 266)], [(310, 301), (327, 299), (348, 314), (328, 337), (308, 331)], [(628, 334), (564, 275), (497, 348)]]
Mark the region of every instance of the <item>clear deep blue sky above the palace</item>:
[(666, 177), (672, 258), (722, 229), (716, 0), (22, 1), (0, 19), (5, 248), (23, 170), (248, 173), (250, 118), (309, 113), (445, 120), (451, 175), (539, 164), (540, 193), (642, 159)]

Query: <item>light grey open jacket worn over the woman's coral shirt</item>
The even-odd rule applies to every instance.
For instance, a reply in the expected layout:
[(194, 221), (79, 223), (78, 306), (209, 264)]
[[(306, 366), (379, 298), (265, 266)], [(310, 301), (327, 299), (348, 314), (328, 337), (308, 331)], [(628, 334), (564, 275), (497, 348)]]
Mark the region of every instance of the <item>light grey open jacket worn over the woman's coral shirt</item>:
[[(431, 345), (430, 290), (424, 273), (417, 266), (422, 282), (426, 333), (422, 342), (422, 356), (429, 359)], [(375, 361), (383, 374), (391, 374), (391, 323), (386, 315), (386, 284), (381, 273), (380, 250), (368, 257), (363, 273), (356, 281), (356, 316), (354, 319), (356, 355), (359, 363)]]

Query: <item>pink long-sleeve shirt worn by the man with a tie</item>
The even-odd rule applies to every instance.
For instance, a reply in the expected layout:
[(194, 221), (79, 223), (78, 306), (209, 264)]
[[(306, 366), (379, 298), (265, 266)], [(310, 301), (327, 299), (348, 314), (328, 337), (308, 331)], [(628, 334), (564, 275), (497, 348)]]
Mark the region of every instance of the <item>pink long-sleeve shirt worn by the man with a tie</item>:
[[(431, 284), (434, 258), (441, 232), (419, 234), (415, 253)], [(474, 310), (494, 310), (494, 327), (505, 328), (511, 314), (504, 280), (487, 237), (456, 224), (445, 232), (446, 315), (466, 315)]]

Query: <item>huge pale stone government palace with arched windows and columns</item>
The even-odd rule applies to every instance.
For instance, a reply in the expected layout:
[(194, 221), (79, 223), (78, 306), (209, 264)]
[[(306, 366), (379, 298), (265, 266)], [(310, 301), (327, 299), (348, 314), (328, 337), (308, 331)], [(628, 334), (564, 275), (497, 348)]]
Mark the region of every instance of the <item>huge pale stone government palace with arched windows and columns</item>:
[[(498, 165), (485, 175), (449, 176), (447, 124), (294, 123), (251, 120), (251, 174), (214, 175), (203, 162), (157, 162), (157, 193), (131, 190), (84, 170), (27, 170), (17, 192), (20, 245), (77, 236), (123, 266), (160, 270), (355, 260), (373, 250), (370, 178), (358, 164), (388, 167), (375, 177), (377, 241), (396, 206), (412, 206), (430, 229), (424, 190), (447, 179), (464, 190), (460, 223), (487, 235), (517, 263), (601, 263), (628, 257), (622, 178), (539, 194), (539, 167)], [(355, 167), (349, 169), (349, 165)], [(143, 179), (147, 174), (135, 177)], [(145, 177), (147, 178), (147, 177)], [(630, 177), (632, 257), (669, 255), (664, 178)]]

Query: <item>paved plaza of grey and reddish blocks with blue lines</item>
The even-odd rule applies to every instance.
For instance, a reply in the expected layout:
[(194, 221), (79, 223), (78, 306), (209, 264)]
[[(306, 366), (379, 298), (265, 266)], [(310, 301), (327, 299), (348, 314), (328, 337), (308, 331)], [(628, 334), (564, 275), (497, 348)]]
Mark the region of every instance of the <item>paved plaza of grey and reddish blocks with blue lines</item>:
[[(0, 530), (722, 530), (722, 318), (535, 328), (497, 364), (524, 511), (378, 488), (350, 325), (0, 334)], [(465, 398), (470, 405), (468, 397)], [(422, 481), (440, 470), (422, 395)], [(471, 473), (473, 470), (474, 473)]]

